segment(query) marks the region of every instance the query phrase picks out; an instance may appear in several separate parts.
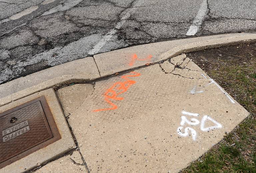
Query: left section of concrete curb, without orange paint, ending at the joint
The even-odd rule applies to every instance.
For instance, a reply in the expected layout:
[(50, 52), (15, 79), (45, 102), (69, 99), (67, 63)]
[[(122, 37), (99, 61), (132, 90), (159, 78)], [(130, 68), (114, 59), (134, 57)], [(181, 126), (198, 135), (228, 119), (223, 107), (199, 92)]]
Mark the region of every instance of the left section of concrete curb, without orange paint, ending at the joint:
[(92, 57), (64, 63), (0, 85), (0, 106), (44, 89), (97, 78)]

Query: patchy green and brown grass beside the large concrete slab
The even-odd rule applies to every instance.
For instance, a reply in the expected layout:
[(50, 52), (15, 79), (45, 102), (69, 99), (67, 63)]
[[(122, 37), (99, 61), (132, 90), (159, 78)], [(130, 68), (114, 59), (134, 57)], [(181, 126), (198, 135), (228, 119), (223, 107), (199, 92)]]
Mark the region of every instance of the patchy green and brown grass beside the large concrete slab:
[(182, 173), (256, 173), (256, 58), (220, 60), (208, 75), (250, 112), (235, 130)]

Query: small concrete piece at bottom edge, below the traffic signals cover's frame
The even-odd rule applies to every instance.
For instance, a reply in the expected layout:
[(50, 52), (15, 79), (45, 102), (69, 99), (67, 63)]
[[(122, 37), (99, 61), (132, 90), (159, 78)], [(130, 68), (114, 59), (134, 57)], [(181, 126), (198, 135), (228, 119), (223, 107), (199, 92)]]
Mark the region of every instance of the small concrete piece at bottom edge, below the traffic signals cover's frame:
[(36, 170), (34, 173), (87, 173), (86, 167), (83, 165), (74, 164), (70, 155), (54, 160), (47, 165)]

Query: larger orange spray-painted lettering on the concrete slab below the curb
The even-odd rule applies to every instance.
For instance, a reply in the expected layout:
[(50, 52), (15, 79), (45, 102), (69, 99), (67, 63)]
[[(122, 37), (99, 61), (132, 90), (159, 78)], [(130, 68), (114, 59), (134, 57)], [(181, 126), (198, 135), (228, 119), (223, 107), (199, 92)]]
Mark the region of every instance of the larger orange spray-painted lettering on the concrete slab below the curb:
[[(105, 110), (114, 110), (117, 109), (118, 106), (115, 105), (112, 100), (123, 100), (124, 97), (118, 97), (118, 95), (126, 92), (130, 86), (132, 86), (133, 84), (135, 84), (136, 82), (133, 80), (130, 80), (128, 77), (138, 77), (141, 74), (137, 73), (137, 72), (130, 72), (134, 75), (125, 75), (122, 76), (121, 78), (124, 79), (124, 82), (116, 82), (115, 84), (113, 84), (110, 88), (107, 89), (107, 91), (103, 94), (105, 97), (105, 101), (110, 104), (112, 107), (110, 108), (103, 108), (103, 109), (96, 109), (93, 110), (93, 112), (99, 112), (99, 111), (105, 111)], [(115, 90), (116, 89), (116, 90)]]

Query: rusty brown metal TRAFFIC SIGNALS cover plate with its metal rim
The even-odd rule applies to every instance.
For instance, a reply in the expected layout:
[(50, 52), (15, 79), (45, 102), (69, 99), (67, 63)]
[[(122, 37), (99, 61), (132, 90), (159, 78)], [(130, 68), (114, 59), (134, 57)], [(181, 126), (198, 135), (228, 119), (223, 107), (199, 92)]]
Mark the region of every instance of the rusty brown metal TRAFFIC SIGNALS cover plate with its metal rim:
[(44, 96), (0, 113), (0, 168), (61, 138)]

